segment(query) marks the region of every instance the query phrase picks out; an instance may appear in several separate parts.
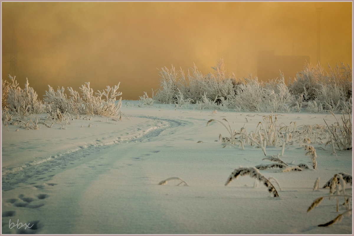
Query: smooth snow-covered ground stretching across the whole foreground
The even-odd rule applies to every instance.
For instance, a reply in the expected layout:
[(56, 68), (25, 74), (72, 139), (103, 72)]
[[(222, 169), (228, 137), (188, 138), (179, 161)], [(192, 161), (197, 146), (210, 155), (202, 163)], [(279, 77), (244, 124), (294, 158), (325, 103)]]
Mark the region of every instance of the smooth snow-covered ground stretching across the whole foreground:
[[(68, 125), (39, 130), (2, 127), (2, 234), (352, 234), (352, 216), (318, 227), (345, 211), (321, 187), (339, 172), (352, 175), (352, 150), (336, 151), (312, 140), (317, 169), (302, 144), (286, 145), (280, 158), (310, 169), (259, 172), (272, 176), (279, 197), (261, 182), (240, 176), (225, 182), (235, 168), (272, 162), (261, 148), (245, 144), (223, 148), (228, 131), (210, 119), (226, 118), (232, 129), (255, 130), (269, 113), (179, 109), (123, 101), (122, 120), (79, 117)], [(273, 117), (275, 114), (273, 114)], [(279, 113), (278, 124), (324, 125), (331, 114)], [(340, 118), (340, 115), (337, 116)], [(18, 131), (16, 131), (18, 129)], [(201, 141), (201, 142), (199, 142)], [(281, 147), (267, 146), (267, 157)], [(159, 182), (179, 177), (179, 181)], [(320, 189), (313, 191), (320, 178)], [(352, 186), (347, 185), (347, 193)], [(22, 224), (33, 225), (30, 229)], [(11, 224), (14, 222), (15, 224)], [(13, 226), (12, 229), (9, 227)]]

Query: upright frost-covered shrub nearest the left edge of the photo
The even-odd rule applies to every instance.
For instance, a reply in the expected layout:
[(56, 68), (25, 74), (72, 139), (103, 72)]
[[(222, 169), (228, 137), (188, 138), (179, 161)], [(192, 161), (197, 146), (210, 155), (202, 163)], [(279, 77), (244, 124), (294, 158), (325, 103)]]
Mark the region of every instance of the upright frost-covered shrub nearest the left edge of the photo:
[(26, 79), (24, 89), (21, 89), (15, 79), (16, 77), (9, 75), (9, 78), (12, 82), (7, 94), (8, 109), (10, 112), (19, 116), (41, 114), (44, 111), (42, 102), (37, 99), (37, 93), (29, 86), (28, 79)]

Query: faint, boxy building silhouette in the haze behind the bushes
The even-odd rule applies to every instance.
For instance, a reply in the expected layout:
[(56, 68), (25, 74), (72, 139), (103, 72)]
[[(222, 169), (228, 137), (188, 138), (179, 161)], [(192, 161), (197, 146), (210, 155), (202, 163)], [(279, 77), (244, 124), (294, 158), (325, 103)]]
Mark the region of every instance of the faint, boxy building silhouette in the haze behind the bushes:
[(257, 77), (268, 82), (269, 79), (280, 78), (281, 71), (285, 83), (288, 83), (289, 77), (293, 81), (306, 62), (310, 62), (309, 56), (275, 56), (274, 51), (258, 51)]

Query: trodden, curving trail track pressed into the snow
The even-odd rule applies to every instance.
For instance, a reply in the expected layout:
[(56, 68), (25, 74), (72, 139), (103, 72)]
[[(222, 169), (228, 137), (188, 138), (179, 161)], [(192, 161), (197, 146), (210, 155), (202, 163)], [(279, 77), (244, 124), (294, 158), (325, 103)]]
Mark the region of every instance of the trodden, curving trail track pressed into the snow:
[[(142, 132), (133, 134), (128, 138), (118, 137), (112, 143), (104, 144), (99, 140), (96, 140), (96, 144), (88, 144), (79, 146), (76, 151), (68, 153), (54, 153), (51, 157), (42, 159), (40, 161), (22, 165), (21, 168), (17, 168), (15, 171), (8, 169), (2, 169), (2, 190), (8, 191), (15, 189), (18, 184), (30, 184), (37, 185), (38, 181), (48, 181), (57, 173), (62, 172), (65, 169), (73, 168), (86, 162), (92, 161), (93, 153), (100, 152), (106, 148), (110, 148), (111, 145), (121, 145), (127, 143), (149, 142), (154, 137), (161, 135), (162, 132), (167, 129), (173, 129), (181, 125), (186, 125), (187, 122), (177, 119), (164, 119), (151, 116), (135, 116), (150, 120), (159, 120), (160, 126), (153, 127), (141, 127), (139, 130)], [(168, 134), (166, 134), (168, 135)]]

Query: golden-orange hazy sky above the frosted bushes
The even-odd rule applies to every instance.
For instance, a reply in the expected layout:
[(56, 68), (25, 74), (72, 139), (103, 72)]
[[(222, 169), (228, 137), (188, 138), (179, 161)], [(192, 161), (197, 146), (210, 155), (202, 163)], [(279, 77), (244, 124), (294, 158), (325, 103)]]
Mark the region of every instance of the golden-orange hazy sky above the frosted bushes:
[(2, 78), (16, 42), (16, 79), (40, 98), (48, 84), (121, 82), (122, 99), (136, 100), (159, 87), (161, 67), (210, 72), (219, 41), (228, 72), (262, 79), (260, 50), (317, 63), (316, 8), (321, 65), (352, 65), (352, 2), (2, 2)]

